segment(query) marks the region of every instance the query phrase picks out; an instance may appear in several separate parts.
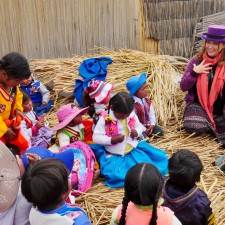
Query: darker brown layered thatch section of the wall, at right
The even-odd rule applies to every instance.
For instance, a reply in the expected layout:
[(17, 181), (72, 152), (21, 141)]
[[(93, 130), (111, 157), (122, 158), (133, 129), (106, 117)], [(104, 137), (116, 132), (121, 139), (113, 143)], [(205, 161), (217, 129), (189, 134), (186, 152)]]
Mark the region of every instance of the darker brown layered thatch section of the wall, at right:
[[(225, 10), (224, 0), (143, 0), (146, 35), (159, 40), (163, 54), (190, 57), (202, 17)], [(217, 20), (211, 20), (216, 24)], [(224, 24), (224, 20), (221, 22)], [(200, 24), (201, 27), (201, 24)], [(205, 30), (202, 30), (202, 32)]]

